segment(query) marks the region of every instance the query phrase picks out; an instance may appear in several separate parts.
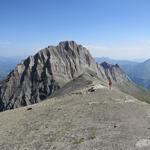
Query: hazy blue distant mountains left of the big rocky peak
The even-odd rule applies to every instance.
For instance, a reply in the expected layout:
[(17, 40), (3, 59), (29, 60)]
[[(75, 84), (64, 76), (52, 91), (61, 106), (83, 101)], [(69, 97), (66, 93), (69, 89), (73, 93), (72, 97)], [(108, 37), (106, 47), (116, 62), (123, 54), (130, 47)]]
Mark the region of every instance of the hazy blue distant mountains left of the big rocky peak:
[(22, 59), (23, 57), (7, 58), (0, 56), (0, 80), (4, 79)]

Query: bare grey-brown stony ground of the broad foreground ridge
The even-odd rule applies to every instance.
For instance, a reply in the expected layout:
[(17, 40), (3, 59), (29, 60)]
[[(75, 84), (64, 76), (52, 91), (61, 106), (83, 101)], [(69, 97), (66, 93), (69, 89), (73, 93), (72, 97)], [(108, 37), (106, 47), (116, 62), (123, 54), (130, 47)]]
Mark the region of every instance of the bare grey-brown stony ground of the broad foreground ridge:
[(102, 85), (2, 112), (0, 119), (1, 150), (150, 149), (150, 105)]

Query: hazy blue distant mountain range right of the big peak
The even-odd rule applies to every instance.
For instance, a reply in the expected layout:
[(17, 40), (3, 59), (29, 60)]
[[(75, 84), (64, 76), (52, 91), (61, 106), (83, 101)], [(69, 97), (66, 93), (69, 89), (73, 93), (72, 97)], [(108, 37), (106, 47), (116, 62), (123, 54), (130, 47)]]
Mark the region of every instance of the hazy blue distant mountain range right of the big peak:
[(111, 64), (118, 64), (136, 84), (150, 89), (150, 59), (142, 63), (128, 60), (114, 60), (107, 57), (95, 59), (98, 63), (106, 61)]

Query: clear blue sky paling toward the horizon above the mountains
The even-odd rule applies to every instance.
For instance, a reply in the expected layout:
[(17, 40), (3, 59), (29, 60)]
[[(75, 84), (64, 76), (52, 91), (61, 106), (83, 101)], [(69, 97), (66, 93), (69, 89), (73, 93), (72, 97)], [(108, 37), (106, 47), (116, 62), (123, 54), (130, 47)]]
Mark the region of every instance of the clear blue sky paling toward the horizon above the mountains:
[(0, 56), (75, 40), (93, 56), (150, 58), (149, 0), (1, 0)]

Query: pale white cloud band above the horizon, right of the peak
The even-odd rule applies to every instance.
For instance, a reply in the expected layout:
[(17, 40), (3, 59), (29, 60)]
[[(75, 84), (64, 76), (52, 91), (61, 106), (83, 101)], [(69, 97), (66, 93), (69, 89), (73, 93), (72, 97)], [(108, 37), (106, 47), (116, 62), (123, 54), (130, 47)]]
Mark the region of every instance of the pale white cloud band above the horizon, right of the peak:
[(108, 47), (86, 45), (94, 57), (110, 57), (117, 59), (150, 58), (150, 46)]

